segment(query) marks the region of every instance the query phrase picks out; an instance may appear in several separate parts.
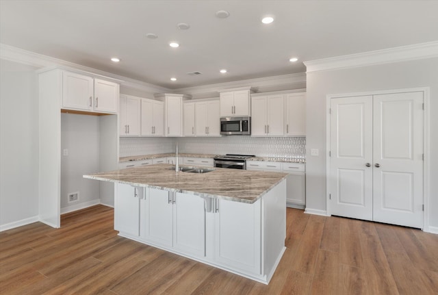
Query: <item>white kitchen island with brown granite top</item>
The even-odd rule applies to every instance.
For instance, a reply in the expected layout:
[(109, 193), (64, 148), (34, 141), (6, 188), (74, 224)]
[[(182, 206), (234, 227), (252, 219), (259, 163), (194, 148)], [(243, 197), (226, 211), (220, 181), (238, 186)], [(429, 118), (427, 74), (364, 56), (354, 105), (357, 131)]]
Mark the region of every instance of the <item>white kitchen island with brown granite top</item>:
[(157, 164), (84, 177), (115, 183), (114, 228), (125, 238), (262, 283), (285, 251), (286, 174)]

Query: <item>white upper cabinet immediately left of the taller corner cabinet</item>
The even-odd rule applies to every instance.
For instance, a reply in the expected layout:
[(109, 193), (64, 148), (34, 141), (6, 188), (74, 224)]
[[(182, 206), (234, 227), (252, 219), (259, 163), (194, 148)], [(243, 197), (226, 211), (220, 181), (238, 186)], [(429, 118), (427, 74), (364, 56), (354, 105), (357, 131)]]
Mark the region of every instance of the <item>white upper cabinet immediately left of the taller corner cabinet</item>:
[(164, 136), (164, 102), (142, 99), (141, 135)]

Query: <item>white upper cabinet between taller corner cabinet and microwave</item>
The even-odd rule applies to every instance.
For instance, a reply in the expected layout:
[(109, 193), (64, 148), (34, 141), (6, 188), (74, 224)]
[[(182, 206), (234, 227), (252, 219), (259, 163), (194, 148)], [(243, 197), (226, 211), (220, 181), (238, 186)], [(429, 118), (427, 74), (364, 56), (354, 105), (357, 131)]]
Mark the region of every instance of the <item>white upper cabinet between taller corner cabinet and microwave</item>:
[(219, 101), (195, 104), (196, 136), (220, 136), (219, 107)]

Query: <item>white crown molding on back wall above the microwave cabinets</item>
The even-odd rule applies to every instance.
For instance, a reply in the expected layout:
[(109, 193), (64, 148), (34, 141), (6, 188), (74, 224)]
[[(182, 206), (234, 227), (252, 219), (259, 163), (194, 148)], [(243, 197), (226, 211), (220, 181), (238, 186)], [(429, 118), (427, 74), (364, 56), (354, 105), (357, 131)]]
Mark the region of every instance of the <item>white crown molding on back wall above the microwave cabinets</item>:
[(240, 81), (231, 81), (219, 84), (209, 84), (204, 86), (194, 86), (178, 88), (172, 90), (173, 93), (191, 94), (193, 98), (218, 97), (219, 92), (230, 91), (235, 88), (251, 89), (254, 92), (267, 92), (275, 90), (292, 90), (305, 88), (306, 73), (287, 74)]

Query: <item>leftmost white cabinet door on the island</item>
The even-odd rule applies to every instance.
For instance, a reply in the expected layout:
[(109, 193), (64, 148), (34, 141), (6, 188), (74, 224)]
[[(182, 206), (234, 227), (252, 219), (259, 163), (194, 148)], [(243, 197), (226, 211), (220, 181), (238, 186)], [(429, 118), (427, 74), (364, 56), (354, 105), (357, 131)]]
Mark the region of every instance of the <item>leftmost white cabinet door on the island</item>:
[(114, 229), (120, 233), (140, 235), (140, 190), (131, 185), (116, 183)]

